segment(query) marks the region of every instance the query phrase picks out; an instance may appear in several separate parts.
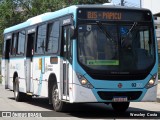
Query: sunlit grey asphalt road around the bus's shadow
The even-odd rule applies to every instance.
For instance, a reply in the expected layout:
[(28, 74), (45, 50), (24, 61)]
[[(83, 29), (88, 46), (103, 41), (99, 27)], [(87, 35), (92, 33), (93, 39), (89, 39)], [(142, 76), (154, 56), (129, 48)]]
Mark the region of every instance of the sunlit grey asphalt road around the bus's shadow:
[[(34, 112), (31, 112), (34, 111)], [(63, 113), (57, 113), (52, 110), (52, 105), (48, 104), (46, 98), (33, 98), (27, 102), (16, 102), (13, 97), (13, 92), (5, 90), (4, 86), (0, 85), (0, 120), (8, 120), (5, 112), (12, 114), (12, 119), (27, 119), (33, 120), (52, 119), (52, 120), (77, 120), (77, 119), (118, 119), (118, 118), (135, 118), (135, 119), (160, 119), (160, 103), (157, 102), (139, 102), (131, 103), (126, 113), (115, 113), (110, 105), (103, 103), (85, 103), (85, 104), (70, 104), (68, 110)], [(32, 113), (35, 113), (32, 115)], [(132, 117), (132, 115), (134, 117)], [(152, 116), (151, 116), (152, 115)], [(38, 118), (41, 117), (42, 118)]]

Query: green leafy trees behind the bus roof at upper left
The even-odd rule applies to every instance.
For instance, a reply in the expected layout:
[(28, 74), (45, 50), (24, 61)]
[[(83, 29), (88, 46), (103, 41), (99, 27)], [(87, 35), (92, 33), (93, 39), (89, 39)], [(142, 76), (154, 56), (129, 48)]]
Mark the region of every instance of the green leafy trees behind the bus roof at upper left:
[(0, 0), (0, 44), (3, 30), (28, 18), (77, 4), (102, 4), (108, 0)]

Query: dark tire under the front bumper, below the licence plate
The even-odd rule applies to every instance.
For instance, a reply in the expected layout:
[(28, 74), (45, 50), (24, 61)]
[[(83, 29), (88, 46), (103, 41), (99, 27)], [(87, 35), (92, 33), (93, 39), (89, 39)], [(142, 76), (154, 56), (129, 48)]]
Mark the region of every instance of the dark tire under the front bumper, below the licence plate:
[(125, 112), (129, 107), (129, 102), (112, 102), (112, 108), (116, 112)]

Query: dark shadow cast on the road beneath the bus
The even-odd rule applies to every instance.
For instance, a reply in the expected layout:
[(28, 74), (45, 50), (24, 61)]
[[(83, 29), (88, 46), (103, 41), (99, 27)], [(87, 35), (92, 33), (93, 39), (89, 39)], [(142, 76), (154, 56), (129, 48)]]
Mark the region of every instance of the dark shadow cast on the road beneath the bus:
[[(14, 98), (9, 98), (14, 100)], [(47, 109), (46, 111), (53, 110), (52, 105), (49, 105), (48, 99), (46, 98), (33, 98), (31, 101), (27, 101), (26, 103), (33, 105), (33, 106), (39, 106), (42, 108)], [(53, 112), (53, 114), (52, 114)], [(133, 108), (129, 107), (129, 109), (125, 113), (117, 113), (113, 111), (111, 105), (106, 105), (104, 103), (83, 103), (83, 104), (67, 104), (67, 110), (65, 112), (55, 112), (51, 111), (46, 116), (54, 116), (55, 117), (78, 117), (78, 118), (85, 118), (85, 119), (105, 119), (105, 118), (130, 118), (130, 113), (144, 113), (151, 111), (146, 111), (144, 109), (139, 108)], [(137, 118), (137, 117), (132, 117)], [(143, 119), (142, 116), (138, 117)], [(156, 118), (156, 117), (155, 117)]]

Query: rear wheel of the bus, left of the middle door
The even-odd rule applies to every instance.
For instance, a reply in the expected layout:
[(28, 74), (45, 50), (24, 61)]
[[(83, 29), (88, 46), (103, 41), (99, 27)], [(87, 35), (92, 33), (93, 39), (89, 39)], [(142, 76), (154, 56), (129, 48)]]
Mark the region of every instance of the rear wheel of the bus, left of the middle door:
[(25, 100), (26, 98), (26, 94), (25, 93), (22, 93), (22, 92), (19, 92), (19, 80), (18, 80), (18, 77), (15, 78), (15, 81), (14, 81), (14, 98), (17, 102), (22, 102)]

